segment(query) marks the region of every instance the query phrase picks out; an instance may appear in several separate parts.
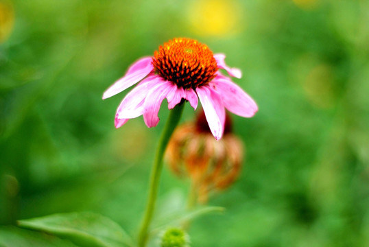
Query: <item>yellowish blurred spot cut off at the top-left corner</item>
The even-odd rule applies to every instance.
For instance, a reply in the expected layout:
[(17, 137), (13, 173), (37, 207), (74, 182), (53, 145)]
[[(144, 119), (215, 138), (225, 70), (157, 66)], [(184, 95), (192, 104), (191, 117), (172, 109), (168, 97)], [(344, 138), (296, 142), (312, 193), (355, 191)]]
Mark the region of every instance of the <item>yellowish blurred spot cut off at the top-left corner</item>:
[(0, 43), (3, 43), (13, 30), (14, 10), (10, 3), (0, 0)]

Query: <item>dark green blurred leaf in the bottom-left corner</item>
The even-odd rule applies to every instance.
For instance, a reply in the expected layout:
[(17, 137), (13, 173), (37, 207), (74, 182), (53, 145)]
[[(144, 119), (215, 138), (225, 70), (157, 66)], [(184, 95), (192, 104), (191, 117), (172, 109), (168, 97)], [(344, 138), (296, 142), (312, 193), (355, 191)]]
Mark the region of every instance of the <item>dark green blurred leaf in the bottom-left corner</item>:
[(59, 239), (46, 233), (37, 233), (16, 226), (0, 226), (1, 247), (75, 247), (69, 240)]

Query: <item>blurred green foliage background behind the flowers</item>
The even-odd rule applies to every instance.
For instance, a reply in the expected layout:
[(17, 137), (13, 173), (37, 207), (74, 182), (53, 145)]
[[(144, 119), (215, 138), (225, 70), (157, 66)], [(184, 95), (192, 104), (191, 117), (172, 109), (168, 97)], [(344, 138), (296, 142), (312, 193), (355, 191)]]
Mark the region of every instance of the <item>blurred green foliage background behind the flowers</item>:
[[(93, 211), (136, 234), (167, 103), (156, 128), (116, 130), (128, 91), (102, 93), (185, 36), (226, 54), (259, 104), (233, 117), (243, 169), (192, 246), (368, 246), (368, 13), (365, 0), (0, 0), (1, 222)], [(165, 167), (159, 200), (188, 182)]]

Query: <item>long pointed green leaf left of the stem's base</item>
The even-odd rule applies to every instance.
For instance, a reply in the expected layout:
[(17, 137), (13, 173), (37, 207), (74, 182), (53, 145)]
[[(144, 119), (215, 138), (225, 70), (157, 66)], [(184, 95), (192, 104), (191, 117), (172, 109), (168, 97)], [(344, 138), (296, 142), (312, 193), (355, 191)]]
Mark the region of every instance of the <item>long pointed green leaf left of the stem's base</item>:
[(79, 246), (134, 246), (132, 239), (112, 220), (95, 213), (59, 213), (29, 220), (19, 226), (70, 239)]

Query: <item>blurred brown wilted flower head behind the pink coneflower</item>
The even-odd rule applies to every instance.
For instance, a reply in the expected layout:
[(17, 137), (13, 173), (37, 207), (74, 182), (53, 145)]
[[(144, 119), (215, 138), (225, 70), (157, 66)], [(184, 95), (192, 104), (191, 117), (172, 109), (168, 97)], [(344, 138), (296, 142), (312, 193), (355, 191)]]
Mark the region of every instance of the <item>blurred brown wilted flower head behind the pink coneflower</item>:
[(215, 141), (202, 112), (195, 123), (178, 126), (169, 141), (166, 158), (175, 174), (189, 176), (198, 191), (198, 200), (206, 202), (209, 191), (225, 189), (237, 178), (243, 145), (231, 132), (228, 114), (224, 137)]

